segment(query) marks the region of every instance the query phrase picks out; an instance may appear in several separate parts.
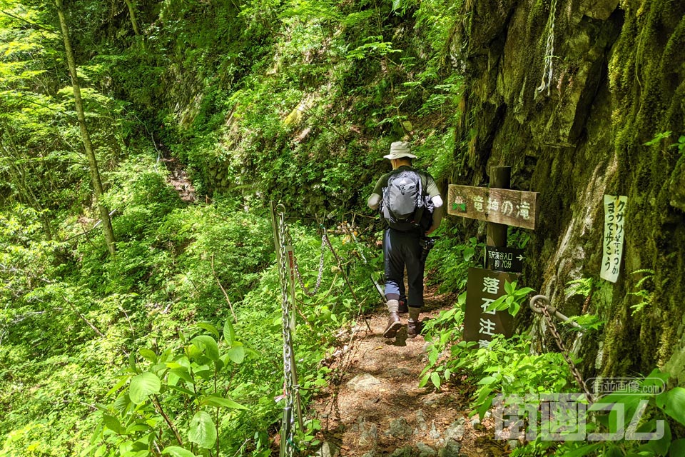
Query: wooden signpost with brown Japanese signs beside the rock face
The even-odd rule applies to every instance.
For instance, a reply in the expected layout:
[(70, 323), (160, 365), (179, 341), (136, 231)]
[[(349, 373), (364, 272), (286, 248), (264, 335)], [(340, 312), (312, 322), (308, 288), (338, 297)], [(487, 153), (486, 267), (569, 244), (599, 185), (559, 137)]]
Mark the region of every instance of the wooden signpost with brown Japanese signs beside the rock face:
[(511, 167), (496, 166), (490, 176), (489, 188), (451, 184), (447, 191), (447, 214), (488, 223), (489, 269), (469, 268), (464, 316), (464, 340), (478, 341), (480, 347), (487, 347), (494, 334), (512, 334), (512, 316), (487, 306), (504, 295), (504, 281), (514, 281), (522, 270), (523, 251), (507, 248), (507, 226), (535, 229), (537, 216), (537, 192), (508, 189)]

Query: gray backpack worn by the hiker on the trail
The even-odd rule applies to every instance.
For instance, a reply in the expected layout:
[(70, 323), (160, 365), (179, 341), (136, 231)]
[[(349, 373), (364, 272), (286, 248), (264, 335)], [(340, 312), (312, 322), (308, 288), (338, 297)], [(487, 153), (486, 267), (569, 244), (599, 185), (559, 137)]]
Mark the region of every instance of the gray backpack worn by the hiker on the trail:
[(426, 196), (422, 177), (414, 170), (393, 173), (383, 188), (382, 215), (387, 224), (396, 230), (409, 231), (422, 228), (425, 219)]

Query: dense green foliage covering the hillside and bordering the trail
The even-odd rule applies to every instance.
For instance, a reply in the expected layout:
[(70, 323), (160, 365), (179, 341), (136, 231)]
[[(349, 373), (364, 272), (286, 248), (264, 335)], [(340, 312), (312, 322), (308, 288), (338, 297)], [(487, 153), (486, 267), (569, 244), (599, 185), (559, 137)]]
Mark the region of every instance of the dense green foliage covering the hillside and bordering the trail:
[[(465, 171), (477, 132), (462, 119), (455, 70), (455, 31), (472, 21), (461, 6), (65, 0), (113, 211), (111, 255), (56, 4), (0, 0), (0, 456), (273, 455), (283, 368), (268, 202), (285, 206), (312, 287), (322, 226), (352, 222), (360, 238), (377, 238), (365, 197), (387, 170), (391, 141), (412, 139), (417, 165), (443, 191)], [(682, 140), (669, 151), (682, 153)], [(179, 164), (194, 200), (187, 182), (171, 185)], [(447, 221), (429, 258), (440, 291), (463, 291), (481, 263), (484, 243), (462, 230)], [(529, 237), (510, 241), (523, 247)], [(305, 405), (330, 380), (335, 331), (377, 305), (368, 278), (379, 252), (330, 238), (342, 263), (323, 248), (322, 287), (296, 302)], [(644, 313), (654, 271), (639, 272), (651, 273), (628, 295)], [(509, 286), (502, 308), (517, 311), (528, 291)], [(498, 393), (571, 388), (559, 353), (534, 353), (529, 338), (489, 349), (461, 342), (464, 301), (427, 325), (429, 363), (417, 383), (466, 376), (481, 415)], [(677, 426), (682, 391), (670, 392), (650, 411)], [(302, 446), (319, 424), (305, 426)]]

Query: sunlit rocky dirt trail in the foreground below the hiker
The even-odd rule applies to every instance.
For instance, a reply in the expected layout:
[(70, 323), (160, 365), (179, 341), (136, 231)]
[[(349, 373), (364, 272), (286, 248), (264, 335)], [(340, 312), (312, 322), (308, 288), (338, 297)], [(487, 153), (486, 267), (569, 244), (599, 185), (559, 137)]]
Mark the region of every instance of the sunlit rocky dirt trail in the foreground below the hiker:
[[(455, 296), (427, 291), (422, 321), (450, 308)], [(405, 324), (396, 338), (383, 338), (387, 314), (370, 316), (370, 328), (360, 323), (347, 335), (341, 355), (332, 365), (339, 376), (315, 399), (323, 447), (318, 456), (360, 457), (487, 457), (507, 453), (506, 443), (492, 438), (492, 419), (480, 423), (468, 417), (468, 393), (473, 386), (419, 388), (427, 363), (423, 336), (407, 338)]]

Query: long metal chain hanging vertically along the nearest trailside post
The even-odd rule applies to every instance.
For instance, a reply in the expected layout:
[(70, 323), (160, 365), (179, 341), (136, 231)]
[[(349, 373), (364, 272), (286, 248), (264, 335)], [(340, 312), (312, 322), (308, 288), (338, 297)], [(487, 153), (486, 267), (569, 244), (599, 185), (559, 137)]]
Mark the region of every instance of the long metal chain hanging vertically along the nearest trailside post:
[[(293, 341), (290, 333), (290, 313), (292, 312), (293, 303), (290, 303), (288, 296), (288, 250), (285, 247), (285, 239), (287, 229), (285, 226), (285, 208), (278, 206), (278, 230), (280, 237), (280, 263), (278, 265), (278, 272), (280, 273), (280, 292), (281, 292), (281, 318), (283, 320), (283, 375), (285, 382), (283, 384), (283, 395), (285, 396), (285, 408), (293, 411)], [(293, 420), (290, 416), (290, 423), (288, 424), (288, 436), (284, 436), (286, 441), (292, 443), (293, 441)], [(293, 446), (285, 446), (285, 455), (290, 457), (293, 455)]]

